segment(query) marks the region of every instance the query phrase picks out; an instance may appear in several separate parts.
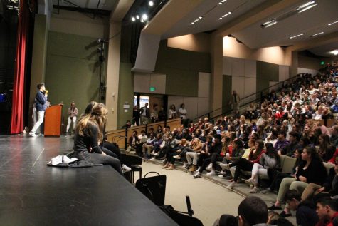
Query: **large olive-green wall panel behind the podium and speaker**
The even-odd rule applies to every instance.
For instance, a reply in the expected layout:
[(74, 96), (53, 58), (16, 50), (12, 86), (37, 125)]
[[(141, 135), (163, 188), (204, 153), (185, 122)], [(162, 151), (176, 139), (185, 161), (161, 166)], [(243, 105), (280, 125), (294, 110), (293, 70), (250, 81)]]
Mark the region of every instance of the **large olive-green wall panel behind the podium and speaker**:
[(75, 101), (79, 113), (83, 113), (90, 101), (101, 101), (100, 63), (95, 43), (95, 38), (86, 36), (48, 33), (45, 78), (48, 99), (52, 105), (63, 101), (65, 119), (71, 101)]

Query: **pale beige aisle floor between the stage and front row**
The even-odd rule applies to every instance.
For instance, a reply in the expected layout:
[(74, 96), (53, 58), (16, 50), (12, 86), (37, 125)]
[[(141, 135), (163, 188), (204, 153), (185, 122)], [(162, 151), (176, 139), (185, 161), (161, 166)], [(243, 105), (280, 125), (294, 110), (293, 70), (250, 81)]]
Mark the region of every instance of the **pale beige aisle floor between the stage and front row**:
[[(186, 212), (185, 196), (189, 195), (191, 207), (195, 212), (194, 217), (199, 218), (204, 225), (213, 225), (213, 222), (225, 213), (237, 215), (237, 207), (243, 197), (236, 192), (203, 178), (194, 179), (190, 173), (181, 170), (164, 170), (162, 165), (143, 162), (142, 175), (150, 171), (167, 175), (165, 204)], [(149, 174), (152, 175), (155, 174)], [(137, 176), (135, 179), (138, 179)]]

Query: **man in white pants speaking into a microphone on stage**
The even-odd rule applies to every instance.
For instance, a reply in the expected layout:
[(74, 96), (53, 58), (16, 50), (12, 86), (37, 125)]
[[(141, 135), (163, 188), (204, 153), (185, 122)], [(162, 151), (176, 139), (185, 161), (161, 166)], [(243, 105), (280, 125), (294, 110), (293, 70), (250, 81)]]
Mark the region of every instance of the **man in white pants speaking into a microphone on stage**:
[(32, 137), (36, 137), (36, 130), (40, 127), (40, 125), (43, 123), (43, 117), (45, 116), (45, 111), (47, 108), (47, 93), (45, 84), (38, 83), (38, 93), (36, 93), (35, 97), (35, 103), (36, 103), (36, 111), (38, 112), (38, 120), (36, 121), (36, 124), (34, 125), (33, 129), (29, 133)]

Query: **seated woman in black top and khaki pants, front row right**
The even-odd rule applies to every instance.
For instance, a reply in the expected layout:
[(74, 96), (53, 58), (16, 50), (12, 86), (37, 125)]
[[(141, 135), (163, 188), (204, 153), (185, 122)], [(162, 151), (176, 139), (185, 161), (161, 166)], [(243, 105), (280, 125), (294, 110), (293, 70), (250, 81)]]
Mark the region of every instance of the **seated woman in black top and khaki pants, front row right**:
[[(278, 197), (274, 205), (269, 207), (269, 210), (281, 210), (281, 202), (285, 199), (287, 190), (295, 189), (298, 192), (303, 192), (309, 183), (324, 183), (327, 178), (327, 170), (319, 158), (315, 148), (306, 147), (302, 152), (302, 163), (297, 169), (295, 178), (284, 178), (280, 183)], [(291, 215), (288, 207), (284, 208), (281, 214), (283, 217)]]

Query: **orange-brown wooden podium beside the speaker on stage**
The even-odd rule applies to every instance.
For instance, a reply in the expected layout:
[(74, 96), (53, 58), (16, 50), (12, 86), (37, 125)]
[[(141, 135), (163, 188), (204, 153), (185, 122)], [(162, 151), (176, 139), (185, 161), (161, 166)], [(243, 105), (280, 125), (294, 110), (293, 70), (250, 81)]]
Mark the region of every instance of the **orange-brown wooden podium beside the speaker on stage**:
[(61, 135), (62, 106), (55, 105), (46, 109), (45, 114), (45, 136)]

